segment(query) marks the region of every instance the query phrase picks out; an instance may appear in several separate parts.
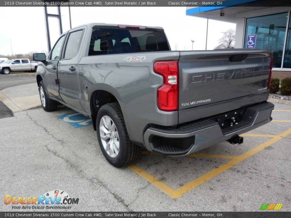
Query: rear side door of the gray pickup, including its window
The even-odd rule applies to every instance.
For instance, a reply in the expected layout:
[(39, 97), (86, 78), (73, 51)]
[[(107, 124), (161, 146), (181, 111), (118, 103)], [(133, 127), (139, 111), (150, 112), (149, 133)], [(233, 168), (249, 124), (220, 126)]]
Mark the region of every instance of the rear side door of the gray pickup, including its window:
[(82, 27), (68, 33), (62, 59), (58, 63), (59, 94), (66, 104), (78, 110), (82, 109), (79, 103), (77, 64), (84, 31), (85, 27)]

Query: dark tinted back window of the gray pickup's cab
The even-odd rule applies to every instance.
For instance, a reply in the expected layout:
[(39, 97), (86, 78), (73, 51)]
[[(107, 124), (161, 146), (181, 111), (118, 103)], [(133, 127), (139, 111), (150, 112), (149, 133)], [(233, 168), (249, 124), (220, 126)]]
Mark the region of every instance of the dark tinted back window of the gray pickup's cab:
[(93, 29), (89, 55), (169, 51), (164, 32)]

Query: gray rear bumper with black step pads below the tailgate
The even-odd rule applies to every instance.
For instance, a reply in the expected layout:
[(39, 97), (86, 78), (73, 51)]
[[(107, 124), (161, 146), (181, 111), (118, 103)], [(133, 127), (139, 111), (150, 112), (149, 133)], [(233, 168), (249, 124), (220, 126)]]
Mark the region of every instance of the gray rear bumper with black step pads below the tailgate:
[[(226, 128), (215, 121), (217, 117), (171, 130), (150, 127), (144, 134), (145, 146), (160, 154), (185, 156), (269, 123), (273, 109), (274, 105), (269, 102), (245, 108), (241, 122)], [(229, 111), (225, 115), (231, 113), (236, 112)]]

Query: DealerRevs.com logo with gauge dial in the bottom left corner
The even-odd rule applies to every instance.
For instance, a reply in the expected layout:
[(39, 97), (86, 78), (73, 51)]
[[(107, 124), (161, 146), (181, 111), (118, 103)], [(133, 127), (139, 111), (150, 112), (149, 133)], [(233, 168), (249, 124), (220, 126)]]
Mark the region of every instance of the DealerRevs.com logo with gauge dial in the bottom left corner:
[(38, 197), (16, 197), (5, 195), (4, 203), (11, 204), (12, 209), (71, 209), (72, 204), (78, 204), (79, 198), (71, 198), (63, 190), (52, 190)]

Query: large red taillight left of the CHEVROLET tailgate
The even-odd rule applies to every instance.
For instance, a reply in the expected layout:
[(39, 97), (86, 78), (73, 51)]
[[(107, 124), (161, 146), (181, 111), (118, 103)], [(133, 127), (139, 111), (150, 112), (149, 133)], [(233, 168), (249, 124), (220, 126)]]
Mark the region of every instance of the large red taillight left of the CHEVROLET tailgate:
[(177, 111), (179, 98), (178, 61), (156, 61), (154, 72), (163, 76), (157, 90), (157, 104), (161, 111)]

